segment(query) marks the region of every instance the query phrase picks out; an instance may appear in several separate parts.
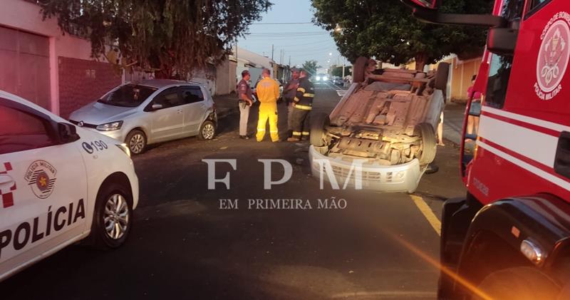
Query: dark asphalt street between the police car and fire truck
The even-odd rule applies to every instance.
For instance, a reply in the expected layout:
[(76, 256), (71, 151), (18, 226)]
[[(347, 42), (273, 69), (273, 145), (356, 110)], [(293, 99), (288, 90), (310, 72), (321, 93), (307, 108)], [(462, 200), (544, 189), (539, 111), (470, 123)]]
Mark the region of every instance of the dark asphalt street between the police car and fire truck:
[[(330, 112), (336, 89), (316, 84), (314, 111)], [(443, 200), (465, 194), (457, 147), (438, 149), (440, 171), (413, 197), (321, 190), (306, 143), (241, 140), (238, 123), (230, 114), (212, 141), (176, 140), (133, 157), (141, 195), (124, 247), (68, 247), (2, 282), (0, 299), (435, 299), (437, 218)], [(283, 135), (284, 104), (279, 126)], [(237, 160), (237, 170), (216, 168), (217, 178), (229, 172), (229, 189), (208, 190), (203, 159)], [(287, 160), (291, 180), (264, 190), (258, 159)], [(277, 180), (283, 169), (271, 173)], [(223, 199), (237, 209), (220, 209)], [(257, 199), (300, 199), (306, 210), (270, 210)], [(336, 205), (318, 209), (325, 199)]]

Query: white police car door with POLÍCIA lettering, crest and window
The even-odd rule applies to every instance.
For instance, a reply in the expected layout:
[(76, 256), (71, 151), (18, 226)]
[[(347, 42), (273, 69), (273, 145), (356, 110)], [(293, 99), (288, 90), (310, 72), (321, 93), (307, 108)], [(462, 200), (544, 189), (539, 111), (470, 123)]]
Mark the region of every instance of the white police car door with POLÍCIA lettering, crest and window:
[(86, 168), (51, 118), (0, 97), (0, 278), (86, 227)]

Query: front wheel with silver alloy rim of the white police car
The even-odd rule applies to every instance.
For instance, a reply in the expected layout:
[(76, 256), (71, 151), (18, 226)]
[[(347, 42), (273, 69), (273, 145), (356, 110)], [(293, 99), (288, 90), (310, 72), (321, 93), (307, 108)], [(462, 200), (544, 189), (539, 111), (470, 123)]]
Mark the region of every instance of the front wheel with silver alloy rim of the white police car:
[(125, 243), (133, 227), (133, 200), (128, 187), (104, 184), (95, 200), (91, 241), (99, 249), (115, 249)]

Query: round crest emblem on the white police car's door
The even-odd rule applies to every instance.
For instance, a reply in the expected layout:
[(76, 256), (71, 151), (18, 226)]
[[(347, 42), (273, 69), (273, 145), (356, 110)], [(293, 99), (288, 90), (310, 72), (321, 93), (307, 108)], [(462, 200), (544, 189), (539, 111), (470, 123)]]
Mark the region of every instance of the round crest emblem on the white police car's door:
[(56, 173), (56, 168), (49, 162), (36, 160), (28, 167), (24, 179), (36, 197), (46, 199), (51, 195), (53, 187), (56, 185)]

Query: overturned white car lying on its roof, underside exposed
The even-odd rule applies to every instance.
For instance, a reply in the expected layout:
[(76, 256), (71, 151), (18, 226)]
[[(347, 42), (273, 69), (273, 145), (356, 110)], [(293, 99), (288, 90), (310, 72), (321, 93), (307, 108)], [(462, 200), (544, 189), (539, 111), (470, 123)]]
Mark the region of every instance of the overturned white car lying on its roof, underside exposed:
[(311, 117), (311, 170), (324, 180), (348, 178), (348, 186), (414, 192), (435, 158), (449, 64), (440, 63), (435, 73), (369, 73), (367, 64), (358, 58), (354, 83), (331, 115)]

